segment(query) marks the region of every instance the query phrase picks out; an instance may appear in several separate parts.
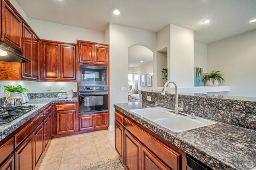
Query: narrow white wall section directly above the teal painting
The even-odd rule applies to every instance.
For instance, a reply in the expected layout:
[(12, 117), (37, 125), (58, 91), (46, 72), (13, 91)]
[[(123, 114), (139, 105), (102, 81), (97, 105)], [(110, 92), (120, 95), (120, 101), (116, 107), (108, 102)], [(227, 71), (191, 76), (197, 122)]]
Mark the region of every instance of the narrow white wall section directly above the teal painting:
[(203, 72), (207, 72), (207, 44), (194, 41), (194, 67), (203, 68)]

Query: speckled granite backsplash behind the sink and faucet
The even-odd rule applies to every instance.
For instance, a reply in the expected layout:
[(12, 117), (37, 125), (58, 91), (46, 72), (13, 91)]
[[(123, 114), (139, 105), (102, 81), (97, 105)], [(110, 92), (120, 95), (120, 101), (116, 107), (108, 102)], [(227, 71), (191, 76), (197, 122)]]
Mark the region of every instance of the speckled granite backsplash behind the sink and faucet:
[[(147, 101), (146, 96), (151, 96), (151, 101)], [(160, 92), (142, 92), (142, 102), (174, 109), (175, 94), (163, 96)], [(179, 106), (183, 102), (185, 113), (256, 130), (256, 102), (183, 94), (179, 94), (178, 102)]]

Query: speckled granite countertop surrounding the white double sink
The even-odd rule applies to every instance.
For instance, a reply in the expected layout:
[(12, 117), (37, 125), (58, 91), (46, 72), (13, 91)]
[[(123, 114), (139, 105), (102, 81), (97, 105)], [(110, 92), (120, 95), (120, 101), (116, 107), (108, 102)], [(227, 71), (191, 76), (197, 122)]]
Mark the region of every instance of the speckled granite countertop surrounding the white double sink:
[(256, 131), (217, 122), (175, 133), (130, 111), (156, 105), (135, 102), (114, 107), (213, 169), (250, 170), (256, 166)]

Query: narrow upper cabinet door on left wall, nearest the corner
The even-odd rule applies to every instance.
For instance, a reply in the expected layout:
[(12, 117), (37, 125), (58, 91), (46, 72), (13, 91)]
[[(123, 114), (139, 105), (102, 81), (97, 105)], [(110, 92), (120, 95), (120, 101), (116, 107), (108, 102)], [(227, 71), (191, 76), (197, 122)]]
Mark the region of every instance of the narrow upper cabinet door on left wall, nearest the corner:
[(39, 40), (33, 36), (33, 78), (39, 79)]

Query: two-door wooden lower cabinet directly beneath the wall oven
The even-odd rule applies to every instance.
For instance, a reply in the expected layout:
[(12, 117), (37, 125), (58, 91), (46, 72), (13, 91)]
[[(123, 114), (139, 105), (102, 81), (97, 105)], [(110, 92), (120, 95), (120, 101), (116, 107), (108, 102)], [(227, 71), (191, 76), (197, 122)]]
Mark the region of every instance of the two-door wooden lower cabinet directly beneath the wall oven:
[(108, 128), (108, 112), (79, 115), (79, 130)]

